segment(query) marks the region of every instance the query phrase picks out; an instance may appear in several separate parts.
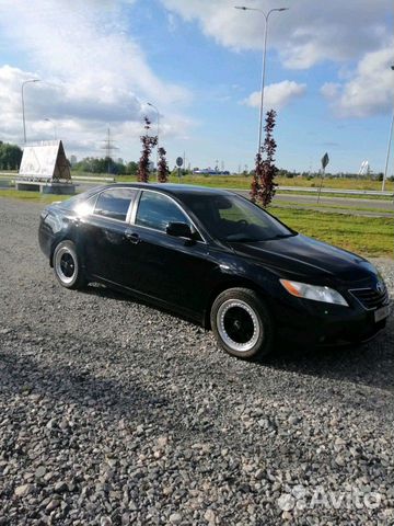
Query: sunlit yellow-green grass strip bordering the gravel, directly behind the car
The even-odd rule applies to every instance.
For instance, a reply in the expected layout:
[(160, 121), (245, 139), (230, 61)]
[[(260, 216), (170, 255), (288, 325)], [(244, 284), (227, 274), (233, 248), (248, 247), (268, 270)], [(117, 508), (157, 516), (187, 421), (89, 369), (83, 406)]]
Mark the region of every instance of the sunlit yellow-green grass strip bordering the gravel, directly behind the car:
[[(65, 201), (67, 195), (38, 194), (1, 190), (0, 197), (42, 203)], [(1, 201), (0, 201), (1, 207)], [(294, 230), (363, 255), (394, 258), (394, 221), (392, 218), (360, 217), (270, 206), (269, 211)]]

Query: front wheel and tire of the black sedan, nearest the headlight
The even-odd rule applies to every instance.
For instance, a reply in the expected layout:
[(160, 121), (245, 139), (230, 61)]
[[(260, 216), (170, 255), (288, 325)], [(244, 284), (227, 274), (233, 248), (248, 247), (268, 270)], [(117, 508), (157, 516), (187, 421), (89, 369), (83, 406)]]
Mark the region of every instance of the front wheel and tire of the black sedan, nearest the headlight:
[(210, 322), (219, 345), (244, 359), (268, 354), (274, 343), (274, 323), (258, 295), (248, 288), (230, 288), (212, 304)]

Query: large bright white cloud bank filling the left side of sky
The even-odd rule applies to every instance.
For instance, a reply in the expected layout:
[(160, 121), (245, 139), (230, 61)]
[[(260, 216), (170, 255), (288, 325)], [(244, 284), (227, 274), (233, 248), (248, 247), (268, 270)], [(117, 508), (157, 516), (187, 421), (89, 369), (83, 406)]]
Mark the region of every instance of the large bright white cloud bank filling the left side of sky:
[[(157, 104), (162, 115), (190, 101), (187, 90), (154, 75), (143, 52), (126, 34), (123, 10), (131, 3), (1, 0), (1, 44), (24, 53), (30, 71), (0, 65), (0, 139), (22, 139), (21, 84), (30, 78), (42, 79), (25, 89), (31, 140), (49, 133), (45, 118), (51, 118), (62, 138), (96, 148), (109, 123), (118, 134), (135, 132), (137, 137), (142, 115), (150, 114), (154, 121), (146, 101)], [(184, 135), (189, 123), (171, 115), (162, 134)]]

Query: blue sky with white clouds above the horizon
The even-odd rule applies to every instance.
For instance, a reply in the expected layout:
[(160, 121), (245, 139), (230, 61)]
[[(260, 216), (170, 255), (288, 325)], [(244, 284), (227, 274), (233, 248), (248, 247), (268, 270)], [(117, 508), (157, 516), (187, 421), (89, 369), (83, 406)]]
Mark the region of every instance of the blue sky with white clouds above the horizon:
[[(244, 1), (244, 3), (242, 3)], [(384, 170), (394, 110), (392, 0), (0, 0), (0, 140), (54, 139), (68, 157), (137, 161), (143, 117), (172, 168), (237, 172), (277, 111), (278, 168)], [(157, 110), (148, 105), (153, 104)], [(394, 147), (389, 174), (394, 173)]]

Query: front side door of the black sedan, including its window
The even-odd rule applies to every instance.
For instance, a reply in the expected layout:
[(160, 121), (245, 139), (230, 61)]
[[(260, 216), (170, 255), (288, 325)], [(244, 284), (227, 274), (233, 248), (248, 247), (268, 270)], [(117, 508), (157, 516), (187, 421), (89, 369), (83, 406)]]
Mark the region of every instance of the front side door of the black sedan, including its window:
[(186, 311), (199, 312), (208, 276), (217, 266), (209, 245), (202, 237), (190, 243), (165, 232), (169, 222), (187, 222), (195, 229), (187, 214), (171, 196), (144, 190), (132, 219), (130, 232), (138, 241), (126, 256), (130, 268), (124, 273), (126, 286)]

